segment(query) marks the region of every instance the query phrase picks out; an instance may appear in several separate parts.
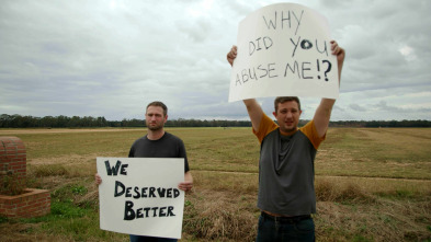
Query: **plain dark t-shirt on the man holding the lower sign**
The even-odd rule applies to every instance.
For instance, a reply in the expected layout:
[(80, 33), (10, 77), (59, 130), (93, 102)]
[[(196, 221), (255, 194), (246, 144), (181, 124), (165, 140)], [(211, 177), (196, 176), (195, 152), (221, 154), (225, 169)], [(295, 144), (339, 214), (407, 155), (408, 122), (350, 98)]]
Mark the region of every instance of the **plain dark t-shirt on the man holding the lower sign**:
[(129, 158), (184, 158), (184, 173), (190, 171), (183, 141), (177, 136), (165, 132), (158, 140), (147, 136), (137, 139), (128, 152)]

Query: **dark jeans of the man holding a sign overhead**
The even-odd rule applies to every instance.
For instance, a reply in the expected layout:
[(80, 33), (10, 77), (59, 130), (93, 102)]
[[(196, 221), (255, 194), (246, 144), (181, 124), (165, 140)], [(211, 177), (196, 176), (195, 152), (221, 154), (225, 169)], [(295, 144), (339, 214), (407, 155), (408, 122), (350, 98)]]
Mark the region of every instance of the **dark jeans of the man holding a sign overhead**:
[(261, 215), (256, 241), (315, 241), (315, 223), (313, 218), (285, 222)]

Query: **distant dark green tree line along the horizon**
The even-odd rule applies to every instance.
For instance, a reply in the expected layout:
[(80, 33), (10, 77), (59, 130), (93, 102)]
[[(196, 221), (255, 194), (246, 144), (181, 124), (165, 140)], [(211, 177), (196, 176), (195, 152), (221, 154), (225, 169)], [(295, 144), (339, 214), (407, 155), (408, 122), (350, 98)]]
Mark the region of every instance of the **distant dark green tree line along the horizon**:
[[(308, 120), (300, 120), (303, 126)], [(431, 120), (337, 120), (330, 127), (431, 127)], [(91, 116), (22, 116), (19, 114), (0, 115), (0, 128), (84, 128), (84, 127), (146, 127), (145, 119), (106, 120), (105, 117)], [(201, 120), (168, 119), (166, 127), (251, 127), (250, 120)]]

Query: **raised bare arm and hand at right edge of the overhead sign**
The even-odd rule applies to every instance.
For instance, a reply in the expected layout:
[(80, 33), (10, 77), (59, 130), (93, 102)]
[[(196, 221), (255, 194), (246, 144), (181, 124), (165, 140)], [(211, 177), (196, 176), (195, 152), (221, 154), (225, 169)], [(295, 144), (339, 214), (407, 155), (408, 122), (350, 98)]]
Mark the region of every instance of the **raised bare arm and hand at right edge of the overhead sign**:
[[(334, 41), (331, 41), (331, 51), (332, 55), (337, 56), (338, 78), (341, 82), (341, 70), (344, 62), (345, 51), (343, 48), (338, 46), (337, 42)], [(324, 137), (328, 129), (329, 119), (331, 117), (331, 112), (334, 103), (336, 100), (321, 99), (320, 104), (316, 110), (313, 120), (315, 123), (316, 130), (319, 137)]]

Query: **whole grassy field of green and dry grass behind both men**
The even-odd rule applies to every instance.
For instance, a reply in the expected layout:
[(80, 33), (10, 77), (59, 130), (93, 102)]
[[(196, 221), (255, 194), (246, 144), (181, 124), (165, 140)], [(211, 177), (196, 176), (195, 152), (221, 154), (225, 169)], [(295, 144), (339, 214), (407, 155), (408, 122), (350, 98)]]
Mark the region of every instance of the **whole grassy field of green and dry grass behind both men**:
[[(250, 128), (171, 128), (194, 191), (181, 241), (253, 241), (259, 142)], [(127, 157), (145, 129), (0, 129), (27, 149), (52, 214), (0, 218), (0, 241), (128, 241), (99, 229), (97, 157)], [(316, 158), (317, 241), (431, 241), (431, 129), (331, 128)]]

